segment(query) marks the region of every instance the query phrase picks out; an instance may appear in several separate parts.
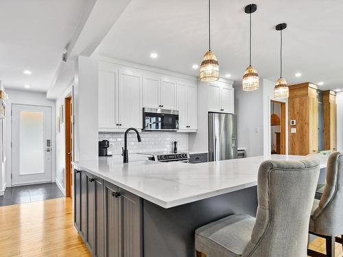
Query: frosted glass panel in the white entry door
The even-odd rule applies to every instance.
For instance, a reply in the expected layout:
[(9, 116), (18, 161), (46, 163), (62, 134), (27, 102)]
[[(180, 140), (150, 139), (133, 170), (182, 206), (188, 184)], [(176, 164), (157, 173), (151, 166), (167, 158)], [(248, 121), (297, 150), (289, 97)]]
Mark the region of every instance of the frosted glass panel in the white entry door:
[(21, 112), (20, 142), (21, 175), (44, 173), (43, 112)]

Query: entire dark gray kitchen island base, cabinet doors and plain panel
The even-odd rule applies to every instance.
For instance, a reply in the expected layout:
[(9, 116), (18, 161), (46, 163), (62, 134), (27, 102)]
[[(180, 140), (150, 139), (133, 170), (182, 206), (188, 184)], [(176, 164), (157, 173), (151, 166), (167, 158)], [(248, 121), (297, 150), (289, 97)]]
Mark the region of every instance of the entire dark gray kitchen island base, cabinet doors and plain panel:
[(196, 228), (257, 210), (256, 186), (163, 208), (86, 171), (74, 183), (75, 228), (98, 257), (193, 257)]

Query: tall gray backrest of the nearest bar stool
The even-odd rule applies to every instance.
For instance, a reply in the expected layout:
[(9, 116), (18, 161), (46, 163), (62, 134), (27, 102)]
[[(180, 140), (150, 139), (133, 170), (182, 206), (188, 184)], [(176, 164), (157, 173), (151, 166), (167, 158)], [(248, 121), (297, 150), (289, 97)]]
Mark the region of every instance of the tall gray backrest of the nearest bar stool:
[(261, 164), (259, 206), (246, 257), (305, 257), (309, 217), (320, 172), (319, 160), (268, 160)]

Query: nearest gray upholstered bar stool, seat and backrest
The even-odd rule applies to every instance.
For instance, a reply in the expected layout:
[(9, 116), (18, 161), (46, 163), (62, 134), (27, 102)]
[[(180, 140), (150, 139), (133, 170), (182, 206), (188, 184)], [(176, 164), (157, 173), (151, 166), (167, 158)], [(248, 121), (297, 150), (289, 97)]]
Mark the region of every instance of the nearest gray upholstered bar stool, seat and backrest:
[(263, 162), (256, 219), (231, 215), (198, 228), (197, 256), (305, 257), (319, 170), (316, 158)]

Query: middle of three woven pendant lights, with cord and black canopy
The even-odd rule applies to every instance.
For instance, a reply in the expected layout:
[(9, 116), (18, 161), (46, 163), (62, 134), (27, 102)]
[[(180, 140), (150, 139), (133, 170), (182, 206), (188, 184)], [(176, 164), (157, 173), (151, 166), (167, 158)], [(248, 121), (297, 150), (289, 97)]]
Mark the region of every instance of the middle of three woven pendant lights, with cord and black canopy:
[(249, 66), (243, 75), (242, 86), (244, 91), (253, 91), (259, 89), (259, 74), (256, 69), (251, 66), (251, 14), (256, 12), (257, 5), (246, 5), (244, 12), (250, 14), (250, 27), (249, 27)]

